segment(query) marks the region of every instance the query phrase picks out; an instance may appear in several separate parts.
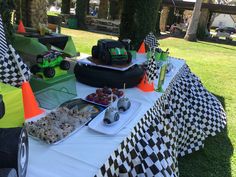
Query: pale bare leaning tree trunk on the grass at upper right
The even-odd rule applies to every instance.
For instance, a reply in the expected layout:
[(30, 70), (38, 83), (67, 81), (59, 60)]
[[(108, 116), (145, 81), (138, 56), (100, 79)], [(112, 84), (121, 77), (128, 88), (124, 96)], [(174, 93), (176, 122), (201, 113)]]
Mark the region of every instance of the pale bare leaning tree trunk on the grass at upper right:
[(201, 14), (201, 6), (202, 6), (202, 0), (197, 0), (195, 2), (190, 24), (184, 36), (184, 39), (187, 41), (197, 40), (197, 28), (198, 28), (198, 22), (199, 22), (199, 18)]

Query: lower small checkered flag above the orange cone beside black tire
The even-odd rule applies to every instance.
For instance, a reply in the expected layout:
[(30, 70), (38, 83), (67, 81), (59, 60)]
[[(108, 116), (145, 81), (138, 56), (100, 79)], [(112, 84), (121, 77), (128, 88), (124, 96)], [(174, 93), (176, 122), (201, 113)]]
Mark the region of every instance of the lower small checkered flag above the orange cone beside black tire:
[(154, 53), (152, 54), (152, 56), (148, 60), (146, 74), (147, 74), (147, 78), (148, 78), (149, 83), (153, 82), (155, 79), (158, 78), (158, 67), (156, 64)]

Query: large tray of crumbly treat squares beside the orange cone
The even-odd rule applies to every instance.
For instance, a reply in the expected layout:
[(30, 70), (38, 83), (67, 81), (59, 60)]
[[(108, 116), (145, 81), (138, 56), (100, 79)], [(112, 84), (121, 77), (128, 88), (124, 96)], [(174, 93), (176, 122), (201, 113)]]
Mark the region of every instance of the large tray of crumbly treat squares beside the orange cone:
[(63, 103), (46, 116), (27, 121), (29, 135), (47, 144), (58, 144), (80, 130), (104, 108), (89, 104), (81, 99)]

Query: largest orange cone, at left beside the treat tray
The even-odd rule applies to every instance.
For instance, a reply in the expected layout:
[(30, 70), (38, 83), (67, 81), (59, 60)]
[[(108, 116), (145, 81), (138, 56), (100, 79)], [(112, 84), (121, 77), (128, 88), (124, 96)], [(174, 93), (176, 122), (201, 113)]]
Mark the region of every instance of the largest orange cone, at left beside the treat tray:
[(41, 110), (38, 106), (38, 103), (34, 97), (29, 82), (23, 82), (21, 89), (23, 96), (25, 119), (30, 119), (32, 117), (44, 113), (44, 111)]

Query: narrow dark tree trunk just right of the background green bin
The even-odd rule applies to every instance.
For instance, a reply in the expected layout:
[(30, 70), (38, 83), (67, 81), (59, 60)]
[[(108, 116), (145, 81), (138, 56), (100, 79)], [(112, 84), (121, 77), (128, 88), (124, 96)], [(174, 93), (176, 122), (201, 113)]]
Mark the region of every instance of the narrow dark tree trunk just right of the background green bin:
[(77, 0), (76, 1), (76, 17), (78, 19), (79, 29), (86, 29), (86, 12), (87, 12), (87, 1), (88, 0)]

